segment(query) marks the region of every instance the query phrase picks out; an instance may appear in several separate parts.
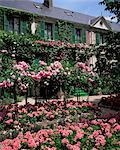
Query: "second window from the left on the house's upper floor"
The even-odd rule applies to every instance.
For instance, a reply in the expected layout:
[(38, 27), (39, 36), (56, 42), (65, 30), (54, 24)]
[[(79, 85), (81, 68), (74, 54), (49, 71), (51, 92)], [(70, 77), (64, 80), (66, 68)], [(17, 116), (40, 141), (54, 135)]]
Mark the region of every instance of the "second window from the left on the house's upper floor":
[(53, 25), (52, 23), (45, 23), (45, 39), (53, 39)]

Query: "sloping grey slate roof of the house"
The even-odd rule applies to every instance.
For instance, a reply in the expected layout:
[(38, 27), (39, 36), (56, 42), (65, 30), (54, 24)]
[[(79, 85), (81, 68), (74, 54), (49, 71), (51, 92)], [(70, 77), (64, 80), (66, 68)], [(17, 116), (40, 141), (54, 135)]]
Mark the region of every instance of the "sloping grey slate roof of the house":
[[(94, 16), (70, 11), (67, 9), (51, 7), (47, 8), (41, 3), (25, 1), (25, 0), (0, 0), (0, 7), (17, 9), (25, 12), (30, 12), (40, 16), (47, 16), (50, 18), (66, 20), (84, 25), (90, 25), (91, 20), (95, 21), (97, 18)], [(92, 22), (93, 22), (92, 21)], [(110, 22), (109, 22), (110, 23)], [(120, 24), (110, 23), (113, 31), (120, 31)]]

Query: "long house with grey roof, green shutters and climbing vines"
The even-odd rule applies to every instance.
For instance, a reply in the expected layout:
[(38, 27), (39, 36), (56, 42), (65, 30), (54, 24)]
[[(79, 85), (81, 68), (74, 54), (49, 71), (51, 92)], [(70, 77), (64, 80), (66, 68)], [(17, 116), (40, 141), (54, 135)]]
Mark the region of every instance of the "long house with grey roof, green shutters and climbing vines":
[[(100, 44), (109, 30), (120, 32), (120, 24), (103, 16), (94, 17), (57, 8), (53, 0), (42, 3), (0, 0), (0, 29), (7, 32), (38, 34), (46, 40)], [(29, 32), (28, 32), (29, 30)]]

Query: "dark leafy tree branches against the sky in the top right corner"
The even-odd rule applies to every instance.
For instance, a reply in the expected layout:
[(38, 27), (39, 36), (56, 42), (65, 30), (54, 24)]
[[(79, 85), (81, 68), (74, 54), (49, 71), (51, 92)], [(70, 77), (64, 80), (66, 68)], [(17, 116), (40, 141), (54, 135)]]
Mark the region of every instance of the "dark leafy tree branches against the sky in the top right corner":
[(112, 19), (117, 17), (118, 22), (120, 22), (120, 0), (103, 0), (100, 4), (105, 5), (105, 10), (115, 15)]

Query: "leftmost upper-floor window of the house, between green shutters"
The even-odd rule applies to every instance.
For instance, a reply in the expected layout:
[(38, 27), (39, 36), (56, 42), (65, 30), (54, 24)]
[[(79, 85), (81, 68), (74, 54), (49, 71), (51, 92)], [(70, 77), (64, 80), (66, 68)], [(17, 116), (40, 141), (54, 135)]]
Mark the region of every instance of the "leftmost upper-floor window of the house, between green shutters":
[(9, 31), (20, 33), (20, 19), (19, 18), (9, 18)]

